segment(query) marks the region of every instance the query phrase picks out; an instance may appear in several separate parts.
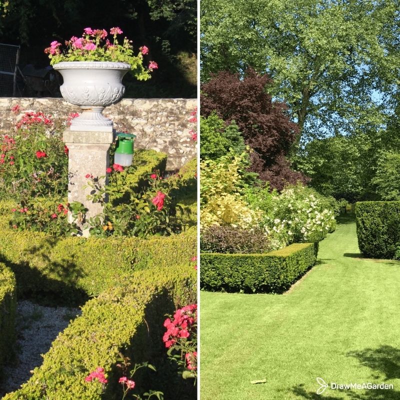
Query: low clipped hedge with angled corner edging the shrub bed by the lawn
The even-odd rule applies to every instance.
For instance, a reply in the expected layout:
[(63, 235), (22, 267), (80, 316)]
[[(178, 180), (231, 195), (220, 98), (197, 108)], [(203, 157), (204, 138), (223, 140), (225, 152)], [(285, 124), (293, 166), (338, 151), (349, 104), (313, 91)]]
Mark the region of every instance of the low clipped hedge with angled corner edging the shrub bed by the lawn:
[(317, 243), (294, 243), (263, 254), (200, 254), (206, 290), (281, 292), (315, 263)]

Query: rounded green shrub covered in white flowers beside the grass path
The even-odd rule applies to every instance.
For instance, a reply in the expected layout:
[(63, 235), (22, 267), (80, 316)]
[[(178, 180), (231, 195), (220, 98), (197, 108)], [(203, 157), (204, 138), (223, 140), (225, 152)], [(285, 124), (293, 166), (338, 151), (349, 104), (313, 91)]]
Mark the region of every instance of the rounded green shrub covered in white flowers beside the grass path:
[(264, 219), (265, 229), (277, 233), (282, 244), (284, 240), (285, 244), (322, 240), (336, 226), (331, 203), (331, 199), (300, 183), (287, 186), (274, 196), (273, 208)]

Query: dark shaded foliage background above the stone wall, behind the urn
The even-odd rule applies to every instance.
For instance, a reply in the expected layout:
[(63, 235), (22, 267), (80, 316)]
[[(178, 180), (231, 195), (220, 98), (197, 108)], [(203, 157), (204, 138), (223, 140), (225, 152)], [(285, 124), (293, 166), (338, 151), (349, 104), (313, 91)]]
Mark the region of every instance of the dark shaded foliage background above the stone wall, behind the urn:
[(0, 41), (21, 45), (21, 67), (45, 67), (50, 41), (63, 43), (88, 26), (119, 26), (135, 51), (149, 47), (145, 65), (159, 66), (146, 82), (124, 77), (125, 97), (196, 97), (196, 15), (195, 0), (12, 0), (0, 2)]

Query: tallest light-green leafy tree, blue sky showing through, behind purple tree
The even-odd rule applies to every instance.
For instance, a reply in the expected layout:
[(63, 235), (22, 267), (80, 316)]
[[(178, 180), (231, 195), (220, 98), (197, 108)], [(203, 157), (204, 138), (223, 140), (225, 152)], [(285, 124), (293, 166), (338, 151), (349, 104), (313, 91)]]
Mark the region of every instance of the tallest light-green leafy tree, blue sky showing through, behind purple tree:
[(201, 78), (273, 79), (300, 131), (313, 137), (379, 128), (400, 66), (399, 0), (202, 0)]

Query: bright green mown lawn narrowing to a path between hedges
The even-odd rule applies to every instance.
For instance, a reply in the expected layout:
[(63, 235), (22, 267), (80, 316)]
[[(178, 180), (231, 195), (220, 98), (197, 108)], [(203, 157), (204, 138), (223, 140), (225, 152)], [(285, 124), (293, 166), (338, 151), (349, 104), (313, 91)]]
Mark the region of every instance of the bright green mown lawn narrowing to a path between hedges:
[[(289, 292), (201, 292), (200, 310), (201, 400), (400, 400), (400, 262), (362, 258), (353, 221)], [(317, 376), (393, 389), (318, 395)]]

